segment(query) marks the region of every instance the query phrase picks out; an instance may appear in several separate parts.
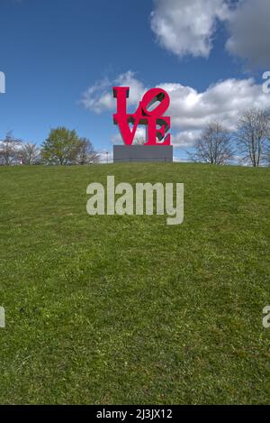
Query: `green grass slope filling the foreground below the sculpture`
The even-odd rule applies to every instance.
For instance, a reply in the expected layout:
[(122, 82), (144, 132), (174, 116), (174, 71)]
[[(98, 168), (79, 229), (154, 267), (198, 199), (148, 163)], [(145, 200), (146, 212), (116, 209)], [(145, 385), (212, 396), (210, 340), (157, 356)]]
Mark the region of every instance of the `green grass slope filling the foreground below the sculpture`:
[[(184, 182), (184, 224), (86, 187)], [(0, 168), (0, 402), (269, 403), (269, 169)]]

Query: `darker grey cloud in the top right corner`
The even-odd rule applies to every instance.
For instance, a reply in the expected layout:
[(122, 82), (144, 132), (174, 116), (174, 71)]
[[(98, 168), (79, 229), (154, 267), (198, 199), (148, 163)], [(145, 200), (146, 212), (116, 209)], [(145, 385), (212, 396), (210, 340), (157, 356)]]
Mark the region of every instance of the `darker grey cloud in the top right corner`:
[(270, 66), (270, 1), (240, 0), (230, 14), (226, 47), (252, 66)]

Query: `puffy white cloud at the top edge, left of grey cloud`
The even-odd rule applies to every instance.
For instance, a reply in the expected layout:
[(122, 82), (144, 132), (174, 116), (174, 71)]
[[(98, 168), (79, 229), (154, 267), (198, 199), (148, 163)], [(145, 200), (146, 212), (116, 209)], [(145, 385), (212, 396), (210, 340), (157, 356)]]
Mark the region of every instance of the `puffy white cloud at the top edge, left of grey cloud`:
[(155, 0), (151, 29), (179, 57), (208, 57), (216, 23), (229, 17), (227, 0)]

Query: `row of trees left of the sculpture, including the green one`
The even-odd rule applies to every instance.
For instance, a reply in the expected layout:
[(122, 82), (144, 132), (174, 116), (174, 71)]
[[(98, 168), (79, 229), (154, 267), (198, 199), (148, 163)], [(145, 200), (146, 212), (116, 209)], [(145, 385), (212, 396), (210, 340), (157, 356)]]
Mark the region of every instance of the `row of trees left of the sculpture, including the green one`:
[(71, 164), (92, 164), (99, 161), (99, 155), (87, 138), (78, 136), (75, 130), (65, 127), (52, 129), (47, 140), (40, 147), (36, 143), (23, 143), (12, 132), (0, 142), (0, 164), (37, 165), (49, 164), (67, 166)]

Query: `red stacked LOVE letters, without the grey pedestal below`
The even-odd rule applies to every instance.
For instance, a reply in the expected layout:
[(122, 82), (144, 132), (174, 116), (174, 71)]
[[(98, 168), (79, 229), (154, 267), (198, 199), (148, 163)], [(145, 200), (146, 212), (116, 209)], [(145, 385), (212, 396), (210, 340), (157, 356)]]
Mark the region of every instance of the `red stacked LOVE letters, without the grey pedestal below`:
[[(162, 88), (151, 88), (142, 97), (139, 107), (133, 115), (127, 113), (127, 98), (129, 87), (113, 87), (113, 97), (117, 99), (117, 113), (113, 115), (113, 123), (118, 124), (122, 141), (131, 145), (139, 124), (148, 125), (147, 140), (145, 145), (170, 145), (170, 117), (164, 116), (170, 98)], [(155, 105), (156, 107), (149, 107)], [(130, 128), (130, 124), (131, 126)], [(158, 142), (157, 142), (158, 140)], [(163, 140), (163, 141), (162, 141)]]

